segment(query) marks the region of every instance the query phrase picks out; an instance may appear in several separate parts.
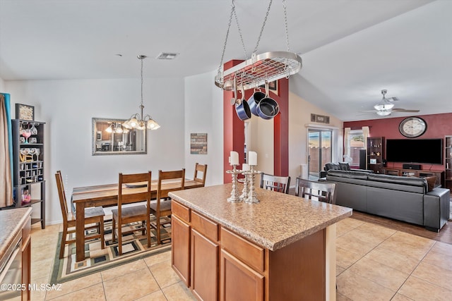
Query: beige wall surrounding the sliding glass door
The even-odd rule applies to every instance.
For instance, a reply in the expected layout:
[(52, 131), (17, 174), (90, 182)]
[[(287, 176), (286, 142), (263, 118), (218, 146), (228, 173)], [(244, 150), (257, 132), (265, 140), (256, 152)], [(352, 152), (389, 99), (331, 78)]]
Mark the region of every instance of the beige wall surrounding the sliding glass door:
[[(307, 164), (307, 131), (308, 124), (311, 123), (311, 113), (330, 116), (331, 128), (338, 128), (333, 130), (333, 161), (342, 161), (343, 154), (343, 122), (338, 118), (331, 116), (331, 114), (322, 111), (313, 104), (302, 99), (297, 94), (289, 93), (289, 176), (291, 178), (291, 186), (295, 185), (295, 178), (300, 176), (301, 164)], [(323, 126), (328, 126), (324, 125)]]

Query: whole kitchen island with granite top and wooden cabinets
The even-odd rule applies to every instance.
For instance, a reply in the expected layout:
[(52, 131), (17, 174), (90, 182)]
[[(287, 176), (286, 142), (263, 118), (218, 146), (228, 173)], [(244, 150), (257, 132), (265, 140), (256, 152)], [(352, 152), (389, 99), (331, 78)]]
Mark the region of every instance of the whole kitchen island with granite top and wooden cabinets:
[[(171, 192), (172, 267), (200, 300), (335, 300), (335, 223), (352, 209), (231, 184)], [(242, 189), (242, 185), (239, 185)]]

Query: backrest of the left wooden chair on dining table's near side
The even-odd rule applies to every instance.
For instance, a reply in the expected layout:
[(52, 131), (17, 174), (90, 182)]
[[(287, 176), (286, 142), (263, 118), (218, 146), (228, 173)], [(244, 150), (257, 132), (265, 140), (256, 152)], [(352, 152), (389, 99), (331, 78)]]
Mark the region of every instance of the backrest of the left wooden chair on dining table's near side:
[(150, 171), (147, 173), (119, 173), (118, 211), (121, 210), (123, 204), (147, 201), (149, 205), (151, 179)]

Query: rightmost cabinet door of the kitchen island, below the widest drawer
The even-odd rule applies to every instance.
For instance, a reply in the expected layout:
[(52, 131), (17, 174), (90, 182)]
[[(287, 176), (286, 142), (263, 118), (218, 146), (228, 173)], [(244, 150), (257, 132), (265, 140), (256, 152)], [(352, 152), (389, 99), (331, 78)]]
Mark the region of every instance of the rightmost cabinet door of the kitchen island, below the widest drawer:
[(232, 254), (220, 252), (220, 300), (263, 300), (263, 276)]

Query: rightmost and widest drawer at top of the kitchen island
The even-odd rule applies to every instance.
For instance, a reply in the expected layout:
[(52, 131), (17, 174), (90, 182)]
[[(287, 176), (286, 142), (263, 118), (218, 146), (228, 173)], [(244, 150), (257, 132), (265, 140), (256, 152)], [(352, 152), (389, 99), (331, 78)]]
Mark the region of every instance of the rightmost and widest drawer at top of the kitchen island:
[(265, 252), (262, 247), (254, 245), (225, 228), (221, 228), (220, 240), (222, 249), (227, 250), (256, 271), (265, 271)]

